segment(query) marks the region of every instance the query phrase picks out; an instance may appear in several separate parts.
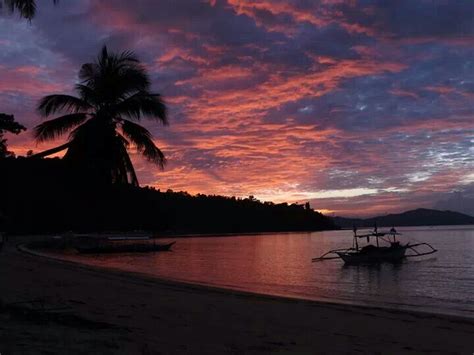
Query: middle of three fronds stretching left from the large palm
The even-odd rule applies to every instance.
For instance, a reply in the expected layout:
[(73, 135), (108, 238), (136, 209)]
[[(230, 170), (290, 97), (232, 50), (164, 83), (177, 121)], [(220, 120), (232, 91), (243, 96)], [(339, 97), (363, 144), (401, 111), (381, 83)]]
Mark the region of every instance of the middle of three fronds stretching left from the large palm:
[(56, 139), (86, 119), (86, 113), (71, 113), (45, 121), (34, 128), (35, 138), (38, 142)]

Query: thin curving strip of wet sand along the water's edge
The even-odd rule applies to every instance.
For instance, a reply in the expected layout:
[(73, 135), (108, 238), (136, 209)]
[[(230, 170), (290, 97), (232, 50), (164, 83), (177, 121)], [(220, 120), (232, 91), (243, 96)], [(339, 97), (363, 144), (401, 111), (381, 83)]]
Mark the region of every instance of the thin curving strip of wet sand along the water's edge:
[[(190, 237), (191, 238), (191, 237)], [(136, 271), (125, 271), (118, 268), (112, 267), (101, 267), (91, 264), (84, 264), (81, 262), (77, 262), (74, 260), (70, 260), (67, 258), (56, 257), (55, 255), (43, 253), (41, 251), (36, 251), (33, 249), (28, 248), (25, 244), (19, 244), (16, 246), (17, 249), (25, 254), (28, 254), (31, 257), (39, 257), (45, 258), (52, 262), (57, 263), (65, 263), (72, 267), (81, 268), (84, 270), (94, 271), (94, 272), (104, 272), (104, 273), (113, 273), (116, 275), (120, 275), (122, 277), (127, 277), (133, 279), (142, 279), (147, 282), (156, 282), (157, 284), (165, 284), (165, 285), (172, 285), (178, 287), (189, 288), (193, 290), (201, 290), (201, 291), (211, 291), (217, 293), (223, 293), (228, 295), (241, 295), (241, 296), (250, 296), (250, 297), (261, 297), (262, 299), (269, 299), (275, 301), (288, 301), (288, 302), (309, 302), (314, 303), (319, 306), (323, 307), (355, 307), (361, 308), (363, 310), (373, 310), (373, 311), (388, 311), (388, 312), (399, 312), (399, 313), (406, 313), (409, 315), (418, 315), (423, 317), (442, 317), (442, 318), (452, 318), (458, 321), (467, 321), (472, 322), (474, 324), (474, 316), (468, 317), (460, 314), (448, 313), (448, 312), (430, 312), (430, 311), (423, 311), (423, 310), (412, 310), (412, 309), (405, 309), (405, 308), (393, 308), (390, 306), (369, 306), (365, 304), (357, 304), (357, 303), (350, 303), (350, 302), (343, 302), (343, 301), (326, 301), (323, 299), (311, 299), (306, 297), (298, 297), (298, 296), (289, 296), (289, 295), (277, 295), (277, 294), (270, 294), (270, 293), (259, 293), (255, 291), (233, 288), (230, 286), (218, 285), (218, 284), (208, 284), (205, 282), (199, 281), (190, 281), (184, 279), (173, 279), (167, 277), (160, 277), (154, 276), (146, 273), (136, 272)], [(415, 306), (414, 306), (415, 307)]]

